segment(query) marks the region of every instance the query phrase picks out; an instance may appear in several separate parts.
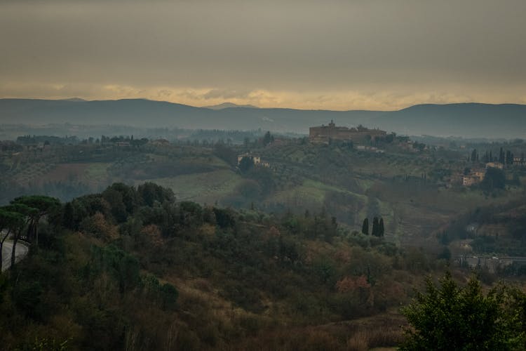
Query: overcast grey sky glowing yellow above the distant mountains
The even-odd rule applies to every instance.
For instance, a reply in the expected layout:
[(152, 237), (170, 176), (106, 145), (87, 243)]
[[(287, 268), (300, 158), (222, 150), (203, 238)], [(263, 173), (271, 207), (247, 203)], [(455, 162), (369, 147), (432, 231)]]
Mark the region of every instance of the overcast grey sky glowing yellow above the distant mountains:
[(0, 0), (0, 98), (526, 103), (524, 0)]

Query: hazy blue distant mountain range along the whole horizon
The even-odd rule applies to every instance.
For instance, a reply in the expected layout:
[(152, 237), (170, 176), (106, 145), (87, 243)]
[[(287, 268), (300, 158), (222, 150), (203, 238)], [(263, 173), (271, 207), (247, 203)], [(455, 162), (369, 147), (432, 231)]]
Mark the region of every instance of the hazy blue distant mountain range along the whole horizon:
[[(232, 104), (234, 105), (234, 104)], [(0, 124), (113, 124), (147, 128), (237, 129), (308, 133), (309, 126), (363, 124), (407, 135), (526, 138), (526, 105), (414, 105), (398, 111), (330, 111), (222, 104), (193, 107), (142, 99), (0, 99)]]

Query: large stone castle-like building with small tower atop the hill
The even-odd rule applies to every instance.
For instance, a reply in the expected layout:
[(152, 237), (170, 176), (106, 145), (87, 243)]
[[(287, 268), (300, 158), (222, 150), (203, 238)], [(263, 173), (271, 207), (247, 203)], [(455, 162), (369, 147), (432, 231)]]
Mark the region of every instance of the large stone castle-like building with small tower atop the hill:
[(369, 129), (363, 126), (358, 126), (358, 128), (337, 127), (333, 121), (330, 121), (328, 126), (321, 125), (309, 128), (309, 139), (311, 143), (328, 144), (330, 140), (351, 140), (353, 143), (363, 143), (363, 141), (367, 139), (374, 140), (377, 136), (383, 137), (385, 135), (385, 131)]

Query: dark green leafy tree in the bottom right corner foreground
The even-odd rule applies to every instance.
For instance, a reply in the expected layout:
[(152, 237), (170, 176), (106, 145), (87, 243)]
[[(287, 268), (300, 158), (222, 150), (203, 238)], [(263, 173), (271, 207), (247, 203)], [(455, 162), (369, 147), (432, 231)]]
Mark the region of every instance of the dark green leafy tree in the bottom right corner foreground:
[(486, 295), (475, 277), (459, 287), (446, 272), (440, 286), (403, 308), (410, 323), (400, 350), (525, 350), (526, 296), (500, 284)]

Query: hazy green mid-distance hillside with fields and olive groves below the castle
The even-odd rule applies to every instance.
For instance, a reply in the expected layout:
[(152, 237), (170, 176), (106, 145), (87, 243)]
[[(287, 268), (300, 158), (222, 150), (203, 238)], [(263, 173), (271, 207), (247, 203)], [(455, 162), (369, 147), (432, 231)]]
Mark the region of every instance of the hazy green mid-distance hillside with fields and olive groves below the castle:
[[(404, 138), (400, 138), (404, 139)], [(264, 147), (177, 143), (116, 147), (112, 143), (53, 145), (35, 152), (0, 154), (0, 204), (21, 194), (47, 194), (69, 201), (100, 192), (112, 183), (149, 181), (169, 187), (178, 199), (267, 213), (318, 212), (321, 208), (351, 229), (365, 217), (384, 218), (386, 238), (397, 244), (436, 246), (430, 235), (450, 220), (483, 204), (520, 197), (526, 180), (521, 167), (510, 168), (508, 190), (484, 192), (454, 183), (472, 167), (468, 150), (406, 150), (402, 141), (378, 142), (385, 152), (346, 145), (313, 145), (303, 138)], [(480, 148), (480, 154), (500, 145)], [(515, 154), (523, 143), (506, 144)], [(269, 167), (238, 169), (239, 154), (253, 152)]]

